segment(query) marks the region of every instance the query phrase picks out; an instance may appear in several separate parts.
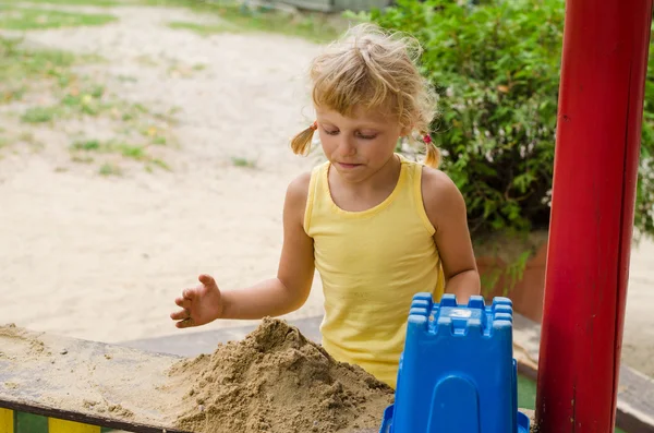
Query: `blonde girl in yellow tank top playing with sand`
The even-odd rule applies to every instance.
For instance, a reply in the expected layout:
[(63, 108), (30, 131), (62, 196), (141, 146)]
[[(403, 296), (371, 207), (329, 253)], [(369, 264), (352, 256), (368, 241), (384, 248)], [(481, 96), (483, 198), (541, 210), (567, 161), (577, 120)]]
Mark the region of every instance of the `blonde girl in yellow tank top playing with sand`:
[[(311, 67), (316, 121), (298, 134), (306, 154), (318, 131), (327, 161), (291, 182), (283, 206), (277, 277), (223, 291), (208, 275), (185, 289), (171, 314), (180, 328), (217, 318), (279, 316), (303, 305), (323, 280), (324, 348), (396, 386), (413, 294), (460, 303), (480, 291), (463, 199), (436, 169), (427, 129), (435, 99), (411, 39), (372, 25), (352, 28)], [(396, 154), (400, 137), (420, 134), (426, 166)]]

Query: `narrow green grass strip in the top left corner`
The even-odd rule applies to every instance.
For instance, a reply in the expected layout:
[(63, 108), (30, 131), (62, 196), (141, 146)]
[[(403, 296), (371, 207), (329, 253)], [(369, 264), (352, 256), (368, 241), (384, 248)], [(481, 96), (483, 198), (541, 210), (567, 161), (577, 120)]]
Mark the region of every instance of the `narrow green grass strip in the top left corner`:
[(0, 28), (10, 31), (104, 25), (116, 20), (116, 16), (109, 14), (11, 8), (0, 4)]

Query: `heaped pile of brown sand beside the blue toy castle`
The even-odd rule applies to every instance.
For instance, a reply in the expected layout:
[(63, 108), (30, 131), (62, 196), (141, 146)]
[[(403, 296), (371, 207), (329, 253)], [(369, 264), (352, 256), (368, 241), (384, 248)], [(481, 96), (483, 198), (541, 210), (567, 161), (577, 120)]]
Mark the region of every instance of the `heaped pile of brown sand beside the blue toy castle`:
[(284, 322), (265, 318), (245, 339), (172, 365), (191, 384), (177, 428), (197, 433), (352, 432), (378, 429), (393, 392), (335, 361)]

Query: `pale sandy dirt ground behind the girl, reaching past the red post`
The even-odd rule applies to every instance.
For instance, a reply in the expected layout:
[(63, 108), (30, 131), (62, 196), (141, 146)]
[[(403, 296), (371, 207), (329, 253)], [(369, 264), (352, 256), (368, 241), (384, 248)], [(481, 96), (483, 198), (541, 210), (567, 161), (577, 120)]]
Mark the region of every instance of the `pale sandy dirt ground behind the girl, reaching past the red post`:
[[(288, 142), (311, 119), (304, 73), (320, 47), (167, 26), (217, 20), (185, 9), (57, 8), (119, 20), (31, 31), (27, 44), (99, 55), (78, 71), (129, 103), (174, 112), (167, 133), (177, 145), (157, 149), (170, 170), (121, 160), (121, 176), (71, 158), (71, 135), (110, 134), (101, 119), (31, 127), (38, 151), (0, 149), (0, 322), (107, 342), (179, 333), (168, 314), (198, 274), (222, 288), (275, 275), (286, 187), (316, 163)], [(0, 106), (3, 129), (23, 128), (24, 104)], [(625, 354), (654, 376), (652, 257), (652, 243), (633, 252)], [(316, 280), (291, 317), (319, 314)]]

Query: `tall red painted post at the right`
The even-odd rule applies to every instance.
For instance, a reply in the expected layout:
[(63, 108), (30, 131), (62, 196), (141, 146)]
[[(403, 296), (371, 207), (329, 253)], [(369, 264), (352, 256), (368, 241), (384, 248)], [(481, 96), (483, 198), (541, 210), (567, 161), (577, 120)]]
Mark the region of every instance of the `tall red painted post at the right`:
[(536, 421), (614, 431), (652, 0), (568, 0)]

